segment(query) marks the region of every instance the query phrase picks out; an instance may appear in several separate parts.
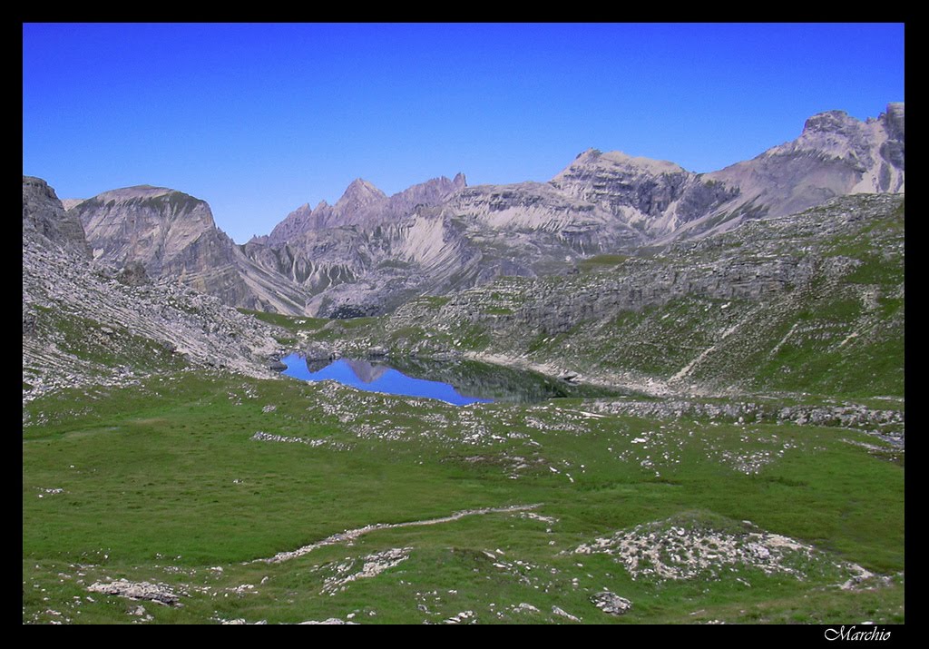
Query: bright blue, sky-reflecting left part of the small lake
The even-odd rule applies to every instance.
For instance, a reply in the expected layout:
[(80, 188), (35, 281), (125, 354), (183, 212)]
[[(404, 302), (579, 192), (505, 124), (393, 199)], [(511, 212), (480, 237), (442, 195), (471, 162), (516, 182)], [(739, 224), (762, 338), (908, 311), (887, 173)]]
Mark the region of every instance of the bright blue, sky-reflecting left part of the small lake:
[(282, 374), (307, 381), (334, 380), (364, 391), (438, 399), (448, 404), (490, 403), (492, 399), (462, 394), (451, 383), (414, 378), (386, 364), (341, 358), (317, 369), (299, 354), (281, 359), (287, 365)]

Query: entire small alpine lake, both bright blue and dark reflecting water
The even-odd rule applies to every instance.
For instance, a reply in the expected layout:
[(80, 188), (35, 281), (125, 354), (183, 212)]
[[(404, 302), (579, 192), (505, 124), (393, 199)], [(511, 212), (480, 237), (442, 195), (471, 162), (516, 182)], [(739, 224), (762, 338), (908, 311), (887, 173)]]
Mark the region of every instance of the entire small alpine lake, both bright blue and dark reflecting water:
[(282, 359), (283, 374), (308, 381), (335, 380), (359, 390), (439, 399), (449, 404), (533, 402), (556, 397), (608, 396), (616, 391), (577, 386), (534, 372), (456, 359), (391, 358), (390, 364), (359, 359)]

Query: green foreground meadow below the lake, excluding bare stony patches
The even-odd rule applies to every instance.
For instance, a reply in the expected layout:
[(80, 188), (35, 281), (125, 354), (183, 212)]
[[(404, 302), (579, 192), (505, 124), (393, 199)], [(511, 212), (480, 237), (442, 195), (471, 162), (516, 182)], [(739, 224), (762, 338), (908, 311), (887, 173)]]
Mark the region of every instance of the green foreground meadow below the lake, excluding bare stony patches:
[[(275, 409), (264, 412), (269, 404)], [(191, 373), (26, 407), (28, 622), (55, 619), (49, 610), (72, 622), (137, 620), (129, 614), (139, 603), (86, 590), (118, 577), (188, 593), (183, 608), (143, 603), (157, 623), (349, 614), (421, 623), (468, 610), (480, 623), (568, 622), (553, 606), (585, 623), (903, 619), (903, 467), (845, 442), (875, 443), (848, 430), (585, 417), (579, 400), (462, 409)], [(256, 430), (328, 444), (255, 442)], [(757, 472), (738, 469), (738, 457), (765, 452), (772, 460)], [(534, 513), (556, 521), (492, 513), (373, 531), (287, 563), (242, 563), (371, 523), (516, 504), (539, 504)], [(597, 536), (682, 516), (719, 529), (749, 520), (892, 583), (840, 591), (828, 566), (803, 581), (736, 566), (719, 578), (659, 583), (633, 579), (606, 555), (570, 553)], [(321, 594), (340, 566), (357, 572), (363, 557), (390, 548), (409, 556)], [(232, 590), (242, 584), (254, 593)], [(614, 618), (597, 610), (590, 596), (603, 588), (631, 599), (633, 611)], [(514, 610), (519, 603), (538, 611)]]

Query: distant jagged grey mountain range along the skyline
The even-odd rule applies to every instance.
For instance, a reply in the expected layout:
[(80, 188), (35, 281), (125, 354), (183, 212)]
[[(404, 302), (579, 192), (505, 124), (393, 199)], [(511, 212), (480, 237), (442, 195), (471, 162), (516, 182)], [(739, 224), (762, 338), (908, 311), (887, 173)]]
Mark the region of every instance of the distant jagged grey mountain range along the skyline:
[(65, 230), (80, 224), (96, 260), (137, 262), (231, 306), (350, 318), (500, 276), (569, 274), (584, 258), (645, 254), (835, 196), (904, 192), (904, 162), (904, 104), (891, 103), (864, 122), (818, 113), (797, 139), (705, 174), (589, 149), (547, 182), (472, 187), (458, 174), (387, 196), (356, 179), (334, 205), (301, 205), (244, 245), (175, 190), (62, 203)]

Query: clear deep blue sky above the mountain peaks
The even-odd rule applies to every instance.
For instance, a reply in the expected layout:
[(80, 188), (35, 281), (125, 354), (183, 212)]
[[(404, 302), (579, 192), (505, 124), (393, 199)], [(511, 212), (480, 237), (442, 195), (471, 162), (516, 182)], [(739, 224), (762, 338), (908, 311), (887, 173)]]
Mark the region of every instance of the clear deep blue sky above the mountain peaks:
[(203, 198), (242, 243), (352, 179), (697, 172), (904, 100), (902, 24), (25, 24), (23, 173)]

